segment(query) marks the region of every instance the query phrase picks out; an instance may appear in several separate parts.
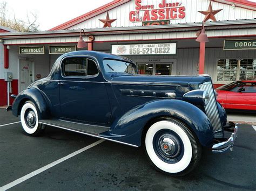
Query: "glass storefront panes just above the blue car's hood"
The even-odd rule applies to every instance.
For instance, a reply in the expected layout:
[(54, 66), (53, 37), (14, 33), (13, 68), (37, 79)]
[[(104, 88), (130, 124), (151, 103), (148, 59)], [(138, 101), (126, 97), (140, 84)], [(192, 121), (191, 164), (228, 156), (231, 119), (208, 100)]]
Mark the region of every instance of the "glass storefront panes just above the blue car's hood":
[(138, 63), (139, 74), (172, 75), (173, 63)]

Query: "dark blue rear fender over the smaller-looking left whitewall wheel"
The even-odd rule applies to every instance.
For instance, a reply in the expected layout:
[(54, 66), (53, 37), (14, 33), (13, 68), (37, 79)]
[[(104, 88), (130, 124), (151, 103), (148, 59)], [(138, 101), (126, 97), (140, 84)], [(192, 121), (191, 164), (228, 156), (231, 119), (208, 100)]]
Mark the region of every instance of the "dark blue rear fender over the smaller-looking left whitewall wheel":
[(14, 103), (12, 103), (12, 114), (16, 117), (21, 112), (21, 106), (26, 101), (32, 101), (38, 110), (38, 118), (45, 119), (49, 118), (49, 102), (46, 101), (45, 96), (42, 91), (37, 88), (28, 88), (22, 91), (16, 98)]

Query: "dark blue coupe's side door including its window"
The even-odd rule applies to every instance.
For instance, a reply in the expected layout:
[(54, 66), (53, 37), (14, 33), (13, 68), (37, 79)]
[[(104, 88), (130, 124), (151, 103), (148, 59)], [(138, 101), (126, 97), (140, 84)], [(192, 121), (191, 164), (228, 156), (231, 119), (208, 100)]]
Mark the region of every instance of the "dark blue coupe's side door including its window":
[(61, 67), (60, 117), (108, 123), (110, 103), (97, 61), (86, 56), (71, 56), (62, 61)]

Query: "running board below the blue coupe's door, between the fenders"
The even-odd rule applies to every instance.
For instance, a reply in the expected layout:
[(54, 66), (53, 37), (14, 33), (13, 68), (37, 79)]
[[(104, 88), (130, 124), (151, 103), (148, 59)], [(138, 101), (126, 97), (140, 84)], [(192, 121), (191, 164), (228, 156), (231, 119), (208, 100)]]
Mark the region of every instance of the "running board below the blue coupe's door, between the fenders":
[(54, 126), (56, 128), (61, 128), (61, 129), (66, 129), (71, 131), (73, 130), (76, 132), (81, 132), (81, 133), (86, 133), (89, 135), (96, 135), (96, 136), (99, 136), (100, 133), (110, 130), (110, 128), (106, 126), (76, 123), (76, 122), (64, 121), (62, 119), (43, 119), (43, 120), (39, 120), (39, 123)]

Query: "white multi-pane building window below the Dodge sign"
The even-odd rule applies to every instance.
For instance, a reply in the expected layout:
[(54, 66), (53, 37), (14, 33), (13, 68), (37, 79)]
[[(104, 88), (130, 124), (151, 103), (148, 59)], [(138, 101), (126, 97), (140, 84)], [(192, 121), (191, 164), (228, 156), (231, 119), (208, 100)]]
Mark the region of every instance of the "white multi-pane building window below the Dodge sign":
[(256, 59), (220, 59), (217, 81), (256, 80)]

